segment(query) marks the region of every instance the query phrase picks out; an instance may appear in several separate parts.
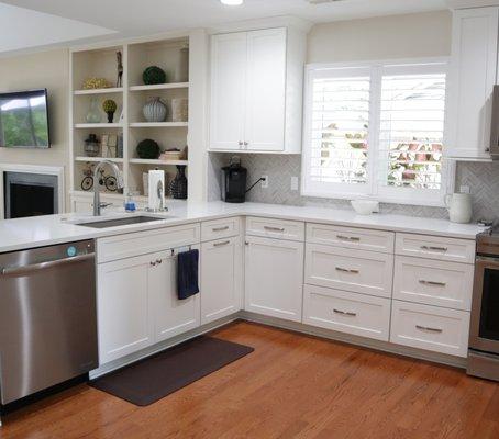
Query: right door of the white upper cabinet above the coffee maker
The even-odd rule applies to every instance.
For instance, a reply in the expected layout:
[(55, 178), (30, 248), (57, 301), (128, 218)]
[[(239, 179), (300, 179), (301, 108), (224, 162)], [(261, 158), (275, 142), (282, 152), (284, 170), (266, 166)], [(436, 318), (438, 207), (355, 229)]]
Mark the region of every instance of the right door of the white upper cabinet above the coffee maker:
[(286, 29), (247, 34), (245, 149), (285, 149)]

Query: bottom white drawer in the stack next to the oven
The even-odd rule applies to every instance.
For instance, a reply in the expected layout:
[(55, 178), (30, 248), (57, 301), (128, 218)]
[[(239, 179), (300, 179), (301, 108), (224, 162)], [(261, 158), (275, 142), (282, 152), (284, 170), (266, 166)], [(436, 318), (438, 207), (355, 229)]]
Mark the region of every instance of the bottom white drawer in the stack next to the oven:
[(390, 341), (467, 357), (469, 313), (393, 301)]

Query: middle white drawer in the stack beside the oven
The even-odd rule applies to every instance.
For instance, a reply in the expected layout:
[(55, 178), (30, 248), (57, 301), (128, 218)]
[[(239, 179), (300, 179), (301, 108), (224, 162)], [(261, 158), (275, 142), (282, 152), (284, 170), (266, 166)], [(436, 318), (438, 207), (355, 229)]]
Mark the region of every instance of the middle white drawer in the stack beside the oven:
[(397, 256), (393, 299), (469, 311), (473, 266)]

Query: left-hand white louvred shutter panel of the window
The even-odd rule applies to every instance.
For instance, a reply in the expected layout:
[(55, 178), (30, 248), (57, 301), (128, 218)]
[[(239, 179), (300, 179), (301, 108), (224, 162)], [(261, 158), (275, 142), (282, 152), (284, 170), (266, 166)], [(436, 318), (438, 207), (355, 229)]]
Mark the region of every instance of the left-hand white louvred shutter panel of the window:
[(367, 193), (370, 75), (365, 68), (318, 70), (306, 125), (308, 185)]

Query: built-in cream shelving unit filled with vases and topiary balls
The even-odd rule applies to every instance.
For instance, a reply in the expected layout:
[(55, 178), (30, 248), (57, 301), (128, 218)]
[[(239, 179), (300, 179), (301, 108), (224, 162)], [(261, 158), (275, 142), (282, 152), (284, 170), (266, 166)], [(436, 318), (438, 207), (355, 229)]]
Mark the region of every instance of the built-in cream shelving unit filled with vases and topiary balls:
[[(140, 194), (144, 202), (149, 170), (165, 170), (167, 198), (176, 176), (187, 175), (190, 35), (71, 49), (70, 189), (78, 209), (92, 195), (81, 190), (82, 180), (104, 159), (120, 167), (123, 193)], [(153, 151), (137, 151), (144, 142)], [(124, 198), (104, 188), (101, 192)]]

